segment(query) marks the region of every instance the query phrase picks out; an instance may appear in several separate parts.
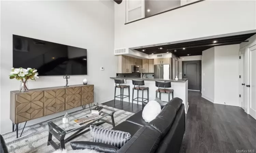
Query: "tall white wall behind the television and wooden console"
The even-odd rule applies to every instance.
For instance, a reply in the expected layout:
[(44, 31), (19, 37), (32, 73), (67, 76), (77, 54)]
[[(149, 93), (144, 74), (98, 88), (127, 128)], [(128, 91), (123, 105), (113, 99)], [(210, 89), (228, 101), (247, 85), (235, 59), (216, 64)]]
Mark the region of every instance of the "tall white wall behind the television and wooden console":
[[(19, 88), (19, 82), (8, 77), (12, 68), (12, 34), (87, 49), (88, 75), (72, 75), (69, 84), (81, 84), (87, 78), (89, 84), (95, 85), (95, 102), (113, 99), (113, 80), (109, 77), (115, 76), (114, 1), (1, 1), (1, 134), (12, 130), (10, 91)], [(100, 71), (102, 66), (104, 71)], [(29, 88), (65, 83), (62, 76), (45, 76), (30, 81)], [(35, 119), (27, 125), (78, 109), (82, 107)]]

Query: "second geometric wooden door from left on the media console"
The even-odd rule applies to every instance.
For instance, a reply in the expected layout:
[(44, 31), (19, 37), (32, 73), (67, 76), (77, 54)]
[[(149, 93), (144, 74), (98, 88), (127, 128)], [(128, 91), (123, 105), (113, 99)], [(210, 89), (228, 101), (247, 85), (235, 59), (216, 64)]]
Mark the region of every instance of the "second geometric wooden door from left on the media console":
[(45, 90), (45, 115), (65, 110), (65, 89)]

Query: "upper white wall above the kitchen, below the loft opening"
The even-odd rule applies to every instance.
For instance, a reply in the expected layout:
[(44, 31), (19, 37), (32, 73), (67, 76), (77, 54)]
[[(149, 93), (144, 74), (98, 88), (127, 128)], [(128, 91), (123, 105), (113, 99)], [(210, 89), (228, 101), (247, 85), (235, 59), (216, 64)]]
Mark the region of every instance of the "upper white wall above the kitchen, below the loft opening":
[(205, 0), (125, 25), (123, 1), (115, 4), (114, 47), (131, 48), (255, 30), (255, 4), (250, 0)]

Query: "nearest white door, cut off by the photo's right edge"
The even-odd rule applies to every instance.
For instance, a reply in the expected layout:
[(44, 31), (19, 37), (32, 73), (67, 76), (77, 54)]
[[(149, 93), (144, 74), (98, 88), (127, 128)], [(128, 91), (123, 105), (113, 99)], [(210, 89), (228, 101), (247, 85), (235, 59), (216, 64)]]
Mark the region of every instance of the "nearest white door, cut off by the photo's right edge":
[(248, 47), (248, 53), (250, 54), (250, 67), (249, 67), (249, 109), (248, 114), (250, 114), (254, 119), (256, 119), (256, 44)]

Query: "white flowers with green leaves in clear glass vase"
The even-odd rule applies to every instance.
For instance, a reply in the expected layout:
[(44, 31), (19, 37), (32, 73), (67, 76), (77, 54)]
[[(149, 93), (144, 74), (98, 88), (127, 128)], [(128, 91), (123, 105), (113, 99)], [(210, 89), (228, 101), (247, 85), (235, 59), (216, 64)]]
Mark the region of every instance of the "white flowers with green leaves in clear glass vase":
[(20, 68), (12, 68), (12, 71), (10, 72), (10, 79), (16, 79), (16, 80), (20, 80), (23, 83), (22, 88), (20, 89), (20, 91), (28, 91), (28, 87), (26, 85), (27, 81), (29, 79), (34, 80), (38, 79), (39, 77), (37, 76), (38, 72), (36, 69), (31, 69), (31, 68), (27, 68), (24, 69), (22, 67)]

